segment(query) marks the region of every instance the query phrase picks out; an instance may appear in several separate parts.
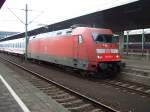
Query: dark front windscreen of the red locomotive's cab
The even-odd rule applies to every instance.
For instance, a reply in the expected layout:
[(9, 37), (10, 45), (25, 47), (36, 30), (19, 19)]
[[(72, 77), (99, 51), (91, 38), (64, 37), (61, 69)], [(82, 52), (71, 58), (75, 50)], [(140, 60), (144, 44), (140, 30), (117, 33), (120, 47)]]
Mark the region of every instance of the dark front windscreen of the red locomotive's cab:
[(96, 43), (114, 43), (114, 42), (116, 42), (116, 38), (113, 35), (109, 35), (109, 34), (93, 33), (92, 37)]

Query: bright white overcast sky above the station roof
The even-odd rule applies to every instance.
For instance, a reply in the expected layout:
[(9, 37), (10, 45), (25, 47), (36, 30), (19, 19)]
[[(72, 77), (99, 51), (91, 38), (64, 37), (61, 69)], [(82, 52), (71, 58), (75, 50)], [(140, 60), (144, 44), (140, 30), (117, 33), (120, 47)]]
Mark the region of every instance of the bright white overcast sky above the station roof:
[(134, 1), (137, 0), (6, 0), (0, 10), (0, 31), (24, 32), (26, 3), (31, 30)]

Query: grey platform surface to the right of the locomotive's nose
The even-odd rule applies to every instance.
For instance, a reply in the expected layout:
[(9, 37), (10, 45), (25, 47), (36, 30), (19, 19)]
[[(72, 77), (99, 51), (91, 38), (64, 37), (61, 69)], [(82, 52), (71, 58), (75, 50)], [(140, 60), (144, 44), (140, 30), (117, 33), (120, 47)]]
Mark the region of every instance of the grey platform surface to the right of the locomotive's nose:
[(123, 58), (123, 62), (126, 67), (121, 79), (150, 86), (150, 60)]

